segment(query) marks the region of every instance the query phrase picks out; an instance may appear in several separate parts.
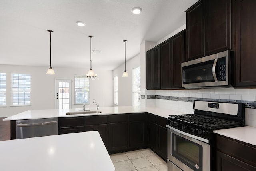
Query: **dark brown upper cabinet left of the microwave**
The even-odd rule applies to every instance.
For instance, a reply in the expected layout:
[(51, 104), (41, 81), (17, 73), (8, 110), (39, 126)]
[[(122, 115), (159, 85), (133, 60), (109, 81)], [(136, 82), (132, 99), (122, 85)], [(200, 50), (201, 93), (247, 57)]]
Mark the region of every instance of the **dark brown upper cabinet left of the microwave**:
[(182, 30), (147, 52), (147, 89), (182, 89), (181, 63), (184, 59), (185, 30)]

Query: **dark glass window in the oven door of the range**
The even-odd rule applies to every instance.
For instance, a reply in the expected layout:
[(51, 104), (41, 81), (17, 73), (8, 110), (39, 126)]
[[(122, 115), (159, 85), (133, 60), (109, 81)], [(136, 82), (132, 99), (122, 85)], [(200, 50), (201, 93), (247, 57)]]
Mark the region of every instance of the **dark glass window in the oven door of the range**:
[(202, 171), (202, 146), (172, 133), (172, 156), (193, 170)]

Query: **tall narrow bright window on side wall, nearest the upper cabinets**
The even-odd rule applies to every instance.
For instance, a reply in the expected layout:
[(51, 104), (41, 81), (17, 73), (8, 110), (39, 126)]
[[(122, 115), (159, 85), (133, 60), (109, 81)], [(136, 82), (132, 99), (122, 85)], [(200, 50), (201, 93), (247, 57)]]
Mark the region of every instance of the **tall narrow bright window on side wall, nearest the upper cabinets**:
[(140, 106), (140, 66), (132, 69), (132, 105)]

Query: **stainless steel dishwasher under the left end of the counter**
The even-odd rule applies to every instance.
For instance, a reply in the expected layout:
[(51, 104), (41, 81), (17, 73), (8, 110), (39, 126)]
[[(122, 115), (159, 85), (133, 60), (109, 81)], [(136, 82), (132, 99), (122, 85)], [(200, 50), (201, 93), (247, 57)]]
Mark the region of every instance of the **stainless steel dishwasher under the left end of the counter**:
[(16, 121), (16, 139), (42, 137), (57, 134), (57, 118), (28, 119)]

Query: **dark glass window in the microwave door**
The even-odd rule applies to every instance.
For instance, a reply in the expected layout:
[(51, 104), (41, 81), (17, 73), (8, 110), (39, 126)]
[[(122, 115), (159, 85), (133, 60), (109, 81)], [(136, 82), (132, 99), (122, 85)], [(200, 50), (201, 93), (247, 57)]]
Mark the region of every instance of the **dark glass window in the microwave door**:
[(200, 82), (214, 82), (212, 74), (212, 66), (214, 60), (200, 62), (182, 68), (183, 83), (200, 83)]

